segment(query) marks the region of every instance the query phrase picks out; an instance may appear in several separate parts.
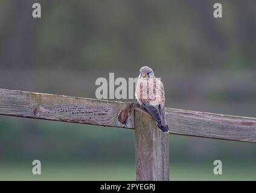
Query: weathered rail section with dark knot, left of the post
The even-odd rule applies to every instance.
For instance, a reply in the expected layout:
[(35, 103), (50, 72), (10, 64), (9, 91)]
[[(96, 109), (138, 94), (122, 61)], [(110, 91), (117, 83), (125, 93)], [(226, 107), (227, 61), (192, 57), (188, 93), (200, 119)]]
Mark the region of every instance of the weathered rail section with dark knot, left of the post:
[(0, 115), (134, 128), (132, 104), (0, 89)]

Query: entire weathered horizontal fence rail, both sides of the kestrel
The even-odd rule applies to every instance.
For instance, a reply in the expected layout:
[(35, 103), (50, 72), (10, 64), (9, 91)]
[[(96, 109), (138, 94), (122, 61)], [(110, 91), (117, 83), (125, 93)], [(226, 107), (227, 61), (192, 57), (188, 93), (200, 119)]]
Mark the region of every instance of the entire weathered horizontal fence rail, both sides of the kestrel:
[[(135, 128), (138, 104), (0, 89), (0, 115)], [(256, 119), (165, 109), (169, 132), (256, 142)]]

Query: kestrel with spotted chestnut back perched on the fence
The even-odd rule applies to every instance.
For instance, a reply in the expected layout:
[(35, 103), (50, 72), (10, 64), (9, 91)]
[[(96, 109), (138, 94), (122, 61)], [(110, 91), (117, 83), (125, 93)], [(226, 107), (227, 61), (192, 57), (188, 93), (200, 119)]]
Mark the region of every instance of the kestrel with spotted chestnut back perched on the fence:
[(155, 78), (153, 70), (148, 66), (143, 66), (139, 70), (135, 98), (156, 121), (159, 130), (168, 132), (164, 110), (164, 85)]

